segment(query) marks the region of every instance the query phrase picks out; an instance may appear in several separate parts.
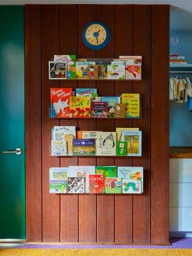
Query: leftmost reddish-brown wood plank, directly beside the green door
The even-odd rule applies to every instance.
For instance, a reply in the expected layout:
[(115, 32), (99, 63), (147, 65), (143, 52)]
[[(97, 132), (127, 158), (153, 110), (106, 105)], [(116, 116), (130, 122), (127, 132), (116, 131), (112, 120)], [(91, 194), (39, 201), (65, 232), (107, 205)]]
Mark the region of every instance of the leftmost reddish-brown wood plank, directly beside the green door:
[(39, 79), (41, 76), (41, 6), (26, 5), (24, 11), (26, 57), (26, 237), (27, 241), (41, 242), (41, 80)]

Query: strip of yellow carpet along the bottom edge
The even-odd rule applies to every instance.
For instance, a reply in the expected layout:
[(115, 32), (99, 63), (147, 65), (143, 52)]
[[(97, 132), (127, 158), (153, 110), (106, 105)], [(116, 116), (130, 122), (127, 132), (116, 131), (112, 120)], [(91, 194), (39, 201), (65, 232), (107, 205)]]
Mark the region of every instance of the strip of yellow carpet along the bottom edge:
[(191, 256), (192, 249), (0, 249), (5, 256)]

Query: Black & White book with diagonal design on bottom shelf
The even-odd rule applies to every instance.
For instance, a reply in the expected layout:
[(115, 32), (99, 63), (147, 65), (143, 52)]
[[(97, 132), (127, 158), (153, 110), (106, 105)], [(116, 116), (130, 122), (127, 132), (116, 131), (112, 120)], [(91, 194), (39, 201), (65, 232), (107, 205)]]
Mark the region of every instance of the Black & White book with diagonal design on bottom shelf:
[(68, 193), (85, 193), (84, 177), (68, 177)]

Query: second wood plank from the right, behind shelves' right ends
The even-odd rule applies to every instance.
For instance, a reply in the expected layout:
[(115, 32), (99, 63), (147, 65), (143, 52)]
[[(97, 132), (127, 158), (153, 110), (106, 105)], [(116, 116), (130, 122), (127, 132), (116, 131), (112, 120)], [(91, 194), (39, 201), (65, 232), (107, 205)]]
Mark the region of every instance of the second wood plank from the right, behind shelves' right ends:
[[(142, 30), (141, 30), (142, 24)], [(144, 193), (133, 195), (133, 242), (150, 242), (150, 154), (151, 154), (151, 6), (133, 7), (133, 55), (143, 56), (142, 81), (133, 81), (133, 93), (140, 93), (142, 117), (133, 119), (133, 127), (142, 131), (143, 152), (133, 158), (133, 166), (144, 168)], [(142, 231), (141, 231), (142, 230)]]

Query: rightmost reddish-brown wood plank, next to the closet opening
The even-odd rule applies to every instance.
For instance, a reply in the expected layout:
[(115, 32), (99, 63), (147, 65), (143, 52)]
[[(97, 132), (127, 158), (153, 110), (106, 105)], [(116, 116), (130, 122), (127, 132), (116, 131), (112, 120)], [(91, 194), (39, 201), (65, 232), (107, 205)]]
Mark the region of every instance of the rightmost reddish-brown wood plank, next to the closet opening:
[(169, 242), (169, 5), (152, 6), (151, 242)]

